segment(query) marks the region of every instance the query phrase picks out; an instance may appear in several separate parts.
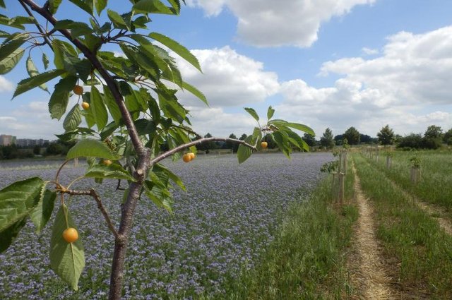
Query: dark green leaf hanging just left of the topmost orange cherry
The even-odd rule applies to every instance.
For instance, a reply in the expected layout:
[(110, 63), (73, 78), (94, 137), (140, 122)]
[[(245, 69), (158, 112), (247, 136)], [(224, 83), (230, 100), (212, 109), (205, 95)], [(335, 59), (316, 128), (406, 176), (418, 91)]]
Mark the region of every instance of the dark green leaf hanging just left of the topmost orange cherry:
[(76, 76), (67, 76), (59, 80), (59, 83), (55, 85), (49, 101), (49, 112), (52, 119), (59, 120), (64, 115), (69, 102), (69, 93), (76, 83)]

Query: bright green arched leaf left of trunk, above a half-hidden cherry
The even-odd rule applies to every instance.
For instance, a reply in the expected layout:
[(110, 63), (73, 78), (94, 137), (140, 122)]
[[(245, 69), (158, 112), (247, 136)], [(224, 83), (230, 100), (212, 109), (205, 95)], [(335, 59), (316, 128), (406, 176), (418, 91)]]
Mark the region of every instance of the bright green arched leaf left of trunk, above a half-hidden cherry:
[(79, 140), (66, 155), (66, 160), (76, 157), (100, 157), (105, 160), (119, 160), (119, 155), (114, 153), (110, 148), (99, 140)]

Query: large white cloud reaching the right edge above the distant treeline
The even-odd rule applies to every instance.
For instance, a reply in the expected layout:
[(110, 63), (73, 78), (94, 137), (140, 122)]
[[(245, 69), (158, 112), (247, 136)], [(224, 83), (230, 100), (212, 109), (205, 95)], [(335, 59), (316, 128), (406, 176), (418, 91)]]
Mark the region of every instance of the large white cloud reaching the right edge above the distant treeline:
[[(328, 61), (320, 75), (343, 76), (329, 88), (303, 80), (281, 84), (284, 116), (310, 122), (321, 133), (350, 126), (375, 136), (389, 124), (397, 133), (424, 132), (435, 124), (451, 128), (452, 27), (422, 35), (400, 32), (388, 37), (381, 56)], [(432, 109), (439, 109), (432, 112)]]

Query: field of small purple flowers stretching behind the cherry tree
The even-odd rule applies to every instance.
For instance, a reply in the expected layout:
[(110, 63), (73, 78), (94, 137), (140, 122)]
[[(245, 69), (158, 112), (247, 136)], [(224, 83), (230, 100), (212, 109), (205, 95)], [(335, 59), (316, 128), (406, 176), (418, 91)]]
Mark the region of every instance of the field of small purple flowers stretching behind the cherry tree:
[[(252, 268), (273, 240), (292, 201), (305, 199), (321, 178), (328, 153), (253, 155), (237, 164), (234, 155), (200, 156), (190, 164), (167, 161), (184, 180), (187, 191), (174, 190), (174, 214), (143, 198), (138, 205), (126, 260), (125, 299), (222, 298), (226, 285), (242, 268)], [(1, 169), (0, 188), (31, 176), (53, 179), (56, 169)], [(61, 182), (83, 174), (65, 168)], [(90, 186), (118, 222), (122, 193), (117, 182), (92, 179)], [(0, 254), (1, 299), (105, 299), (112, 260), (113, 237), (92, 198), (69, 201), (85, 246), (86, 267), (78, 292), (49, 268), (50, 227), (40, 236), (31, 222), (8, 251)], [(51, 221), (52, 222), (52, 221)], [(50, 223), (50, 222), (49, 222)]]

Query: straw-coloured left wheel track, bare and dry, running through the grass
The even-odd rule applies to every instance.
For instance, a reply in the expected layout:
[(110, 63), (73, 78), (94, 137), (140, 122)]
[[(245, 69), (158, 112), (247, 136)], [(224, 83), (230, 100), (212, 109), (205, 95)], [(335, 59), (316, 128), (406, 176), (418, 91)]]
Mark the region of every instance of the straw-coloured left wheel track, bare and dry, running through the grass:
[(386, 275), (383, 259), (378, 253), (372, 208), (362, 193), (355, 166), (352, 169), (355, 174), (355, 198), (359, 210), (354, 253), (349, 263), (349, 270), (355, 271), (352, 281), (359, 287), (363, 299), (396, 299), (396, 294), (391, 292), (388, 284), (391, 277)]

